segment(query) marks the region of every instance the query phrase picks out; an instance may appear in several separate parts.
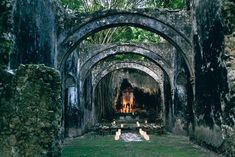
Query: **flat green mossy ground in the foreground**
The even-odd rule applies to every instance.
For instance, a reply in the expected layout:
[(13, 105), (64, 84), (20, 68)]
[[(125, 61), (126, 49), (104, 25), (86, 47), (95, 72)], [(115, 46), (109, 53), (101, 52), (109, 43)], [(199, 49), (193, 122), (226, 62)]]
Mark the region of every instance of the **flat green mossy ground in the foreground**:
[(151, 135), (150, 141), (115, 141), (114, 136), (85, 135), (64, 143), (62, 157), (222, 157), (187, 137)]

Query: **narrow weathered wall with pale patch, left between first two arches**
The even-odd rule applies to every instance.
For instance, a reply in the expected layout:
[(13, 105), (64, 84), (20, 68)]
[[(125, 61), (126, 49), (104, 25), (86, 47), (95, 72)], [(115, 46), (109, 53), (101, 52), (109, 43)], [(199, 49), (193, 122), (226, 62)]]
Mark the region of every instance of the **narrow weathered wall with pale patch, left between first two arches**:
[[(79, 103), (79, 57), (76, 52), (72, 53), (66, 61), (64, 78), (62, 82), (62, 95), (64, 104), (64, 135), (74, 137), (81, 135), (81, 118), (83, 111)], [(78, 99), (78, 100), (77, 100)]]

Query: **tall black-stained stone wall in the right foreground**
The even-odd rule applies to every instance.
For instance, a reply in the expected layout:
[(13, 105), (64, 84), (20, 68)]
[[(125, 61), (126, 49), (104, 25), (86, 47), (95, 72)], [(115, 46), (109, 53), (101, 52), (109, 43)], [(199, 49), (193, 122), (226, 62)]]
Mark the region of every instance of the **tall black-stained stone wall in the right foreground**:
[[(223, 2), (222, 10), (222, 1), (195, 0), (194, 139), (226, 156), (234, 156), (234, 37), (231, 33), (234, 3)], [(228, 34), (225, 40), (224, 33)]]

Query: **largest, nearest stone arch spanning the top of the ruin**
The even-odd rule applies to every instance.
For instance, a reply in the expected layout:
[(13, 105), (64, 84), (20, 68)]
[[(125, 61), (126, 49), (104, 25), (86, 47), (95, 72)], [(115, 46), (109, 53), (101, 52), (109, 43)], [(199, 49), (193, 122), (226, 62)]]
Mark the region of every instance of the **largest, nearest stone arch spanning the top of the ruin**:
[[(186, 64), (188, 65), (190, 74), (193, 77), (194, 70), (192, 46), (190, 40), (187, 38), (187, 36), (190, 36), (190, 33), (187, 32), (187, 28), (191, 28), (190, 20), (186, 18), (183, 20), (180, 27), (176, 27), (179, 14), (179, 12), (167, 14), (163, 11), (157, 11), (157, 14), (151, 16), (151, 14), (148, 15), (144, 12), (137, 13), (119, 11), (112, 14), (110, 12), (108, 14), (98, 14), (98, 16), (96, 15), (92, 19), (87, 18), (88, 20), (84, 20), (87, 22), (75, 26), (69, 35), (61, 40), (59, 44), (59, 53), (57, 56), (57, 67), (63, 67), (63, 64), (69, 54), (77, 47), (79, 42), (90, 34), (110, 27), (132, 25), (150, 30), (168, 40), (173, 46), (176, 47), (177, 51), (182, 54)], [(182, 14), (181, 18), (183, 16), (187, 16), (187, 14)]]

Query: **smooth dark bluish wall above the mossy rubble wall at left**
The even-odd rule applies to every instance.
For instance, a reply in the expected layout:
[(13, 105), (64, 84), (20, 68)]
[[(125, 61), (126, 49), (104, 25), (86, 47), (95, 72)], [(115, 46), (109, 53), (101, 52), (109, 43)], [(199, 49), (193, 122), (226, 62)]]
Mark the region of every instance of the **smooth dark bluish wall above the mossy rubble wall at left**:
[(53, 67), (56, 50), (55, 0), (16, 0), (14, 7), (14, 51), (11, 67), (45, 64)]

